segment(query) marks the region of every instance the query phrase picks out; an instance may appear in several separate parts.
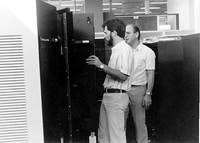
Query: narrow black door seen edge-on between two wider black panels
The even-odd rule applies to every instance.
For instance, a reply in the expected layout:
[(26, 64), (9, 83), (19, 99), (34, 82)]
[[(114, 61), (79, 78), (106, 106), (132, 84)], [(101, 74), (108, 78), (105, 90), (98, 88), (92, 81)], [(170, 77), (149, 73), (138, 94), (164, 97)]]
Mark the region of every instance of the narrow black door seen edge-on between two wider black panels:
[(73, 33), (73, 25), (72, 25), (72, 12), (70, 12), (69, 8), (58, 10), (57, 11), (57, 29), (58, 35), (61, 39), (60, 44), (61, 53), (64, 57), (65, 63), (65, 79), (66, 79), (66, 93), (65, 93), (65, 101), (64, 103), (64, 116), (62, 122), (63, 134), (62, 137), (64, 141), (68, 143), (72, 143), (72, 110), (71, 110), (71, 88), (70, 88), (70, 73), (69, 73), (69, 47), (71, 47), (71, 39)]

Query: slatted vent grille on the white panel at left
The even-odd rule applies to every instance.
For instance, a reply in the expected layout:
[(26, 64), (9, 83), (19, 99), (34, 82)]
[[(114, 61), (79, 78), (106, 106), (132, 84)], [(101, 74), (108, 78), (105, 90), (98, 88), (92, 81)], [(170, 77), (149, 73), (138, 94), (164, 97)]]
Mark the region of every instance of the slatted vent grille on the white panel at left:
[(22, 35), (0, 36), (0, 143), (27, 143)]

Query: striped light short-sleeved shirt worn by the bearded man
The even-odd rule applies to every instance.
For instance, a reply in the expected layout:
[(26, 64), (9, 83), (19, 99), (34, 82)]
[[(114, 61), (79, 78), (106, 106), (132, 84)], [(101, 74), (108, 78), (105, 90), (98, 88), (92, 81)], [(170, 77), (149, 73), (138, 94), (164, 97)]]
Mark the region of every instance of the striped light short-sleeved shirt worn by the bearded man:
[[(108, 62), (108, 66), (110, 68), (119, 70), (125, 75), (130, 76), (131, 63), (133, 58), (132, 48), (126, 44), (125, 41), (121, 41), (112, 47), (111, 51), (112, 53)], [(128, 90), (129, 78), (127, 78), (125, 81), (121, 81), (107, 74), (104, 81), (104, 88)]]

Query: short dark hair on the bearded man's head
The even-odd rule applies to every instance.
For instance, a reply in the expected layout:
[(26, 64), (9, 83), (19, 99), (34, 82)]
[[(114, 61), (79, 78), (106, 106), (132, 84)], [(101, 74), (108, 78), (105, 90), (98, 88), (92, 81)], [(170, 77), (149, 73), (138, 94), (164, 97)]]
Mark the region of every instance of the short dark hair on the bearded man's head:
[(106, 26), (109, 31), (116, 31), (119, 37), (124, 38), (126, 25), (122, 20), (117, 18), (109, 19), (105, 21), (102, 25), (103, 28), (105, 28)]

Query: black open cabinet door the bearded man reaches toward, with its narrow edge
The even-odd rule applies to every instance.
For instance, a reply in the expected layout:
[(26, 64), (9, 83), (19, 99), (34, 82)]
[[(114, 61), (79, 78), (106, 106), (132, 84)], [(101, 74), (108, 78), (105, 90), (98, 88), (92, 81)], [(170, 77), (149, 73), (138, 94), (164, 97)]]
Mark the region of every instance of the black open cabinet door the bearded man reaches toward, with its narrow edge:
[(62, 9), (58, 23), (67, 77), (65, 140), (87, 142), (98, 123), (95, 67), (86, 64), (86, 58), (95, 54), (93, 15)]

